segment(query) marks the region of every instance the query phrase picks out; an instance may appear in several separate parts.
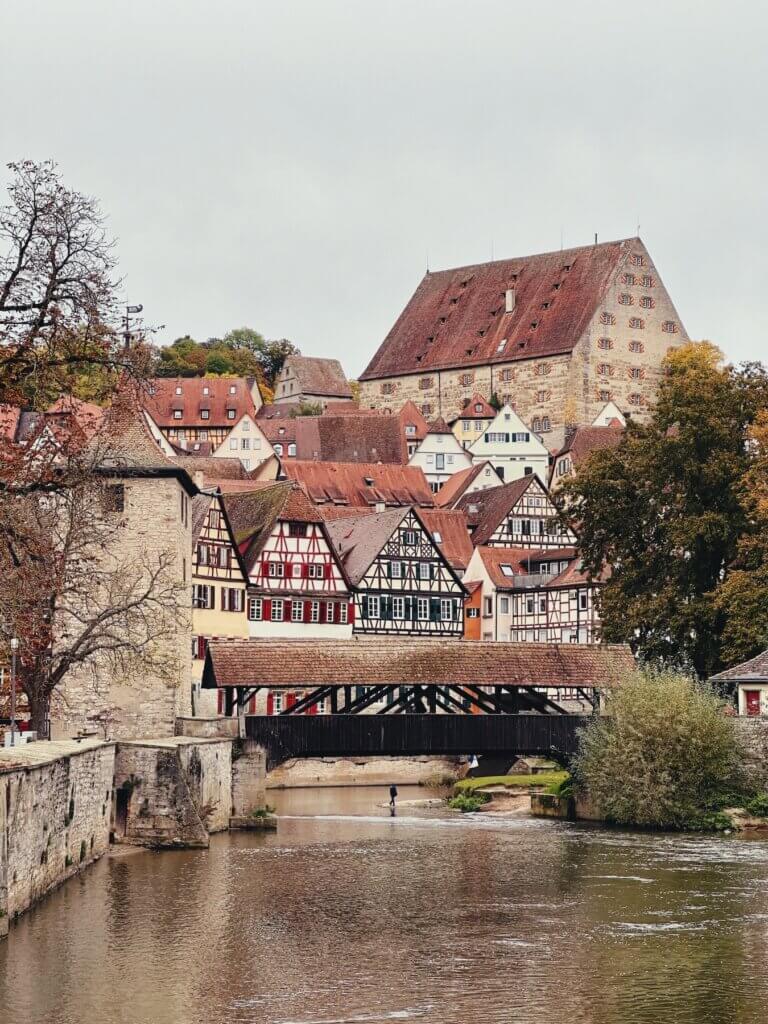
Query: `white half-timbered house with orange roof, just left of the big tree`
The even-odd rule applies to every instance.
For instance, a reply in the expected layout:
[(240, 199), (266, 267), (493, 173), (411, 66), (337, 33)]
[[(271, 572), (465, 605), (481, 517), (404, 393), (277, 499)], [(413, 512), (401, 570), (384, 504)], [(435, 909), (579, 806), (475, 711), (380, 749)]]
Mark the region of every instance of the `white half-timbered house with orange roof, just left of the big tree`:
[[(573, 547), (475, 549), (465, 573), (479, 582), (480, 638), (528, 643), (597, 643), (598, 581)], [(476, 594), (476, 591), (475, 591)]]

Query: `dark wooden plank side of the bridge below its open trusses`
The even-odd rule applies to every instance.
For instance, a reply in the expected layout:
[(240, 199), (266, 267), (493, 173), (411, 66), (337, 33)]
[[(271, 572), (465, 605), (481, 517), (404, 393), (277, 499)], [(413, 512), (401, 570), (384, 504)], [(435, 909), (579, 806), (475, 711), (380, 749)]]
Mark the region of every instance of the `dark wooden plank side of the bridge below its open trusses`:
[(577, 751), (582, 715), (249, 715), (246, 734), (271, 764), (289, 758), (547, 755)]

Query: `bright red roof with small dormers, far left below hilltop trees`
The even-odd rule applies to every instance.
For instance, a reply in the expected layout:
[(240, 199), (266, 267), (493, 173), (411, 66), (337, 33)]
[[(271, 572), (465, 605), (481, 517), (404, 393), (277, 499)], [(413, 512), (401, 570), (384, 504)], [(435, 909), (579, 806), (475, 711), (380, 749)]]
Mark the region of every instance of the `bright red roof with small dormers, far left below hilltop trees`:
[[(231, 428), (248, 413), (256, 418), (251, 387), (255, 382), (245, 377), (157, 377), (150, 382), (155, 393), (144, 393), (141, 403), (159, 427), (227, 427)], [(229, 394), (229, 388), (234, 394)], [(181, 394), (176, 394), (176, 389)], [(203, 393), (209, 389), (209, 394)], [(173, 417), (174, 410), (180, 410), (181, 419)], [(203, 419), (201, 412), (208, 410)], [(229, 418), (227, 413), (234, 411)]]

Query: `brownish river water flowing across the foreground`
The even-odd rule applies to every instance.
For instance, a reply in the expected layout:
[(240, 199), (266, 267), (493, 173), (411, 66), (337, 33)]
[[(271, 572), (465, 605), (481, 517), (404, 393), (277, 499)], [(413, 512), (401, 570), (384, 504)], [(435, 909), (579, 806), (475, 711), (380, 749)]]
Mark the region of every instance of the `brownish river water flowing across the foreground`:
[(13, 1024), (762, 1024), (768, 842), (287, 791), (271, 835), (106, 857), (11, 928)]

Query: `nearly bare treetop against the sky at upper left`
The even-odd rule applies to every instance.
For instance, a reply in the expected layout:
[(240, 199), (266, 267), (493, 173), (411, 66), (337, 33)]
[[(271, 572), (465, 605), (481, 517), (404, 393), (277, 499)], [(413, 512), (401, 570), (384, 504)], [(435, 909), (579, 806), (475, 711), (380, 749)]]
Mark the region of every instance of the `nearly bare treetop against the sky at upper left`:
[[(99, 397), (145, 371), (119, 333), (113, 243), (97, 203), (50, 161), (9, 164), (0, 209), (0, 402), (45, 408), (94, 374)], [(101, 372), (99, 376), (99, 372)]]

